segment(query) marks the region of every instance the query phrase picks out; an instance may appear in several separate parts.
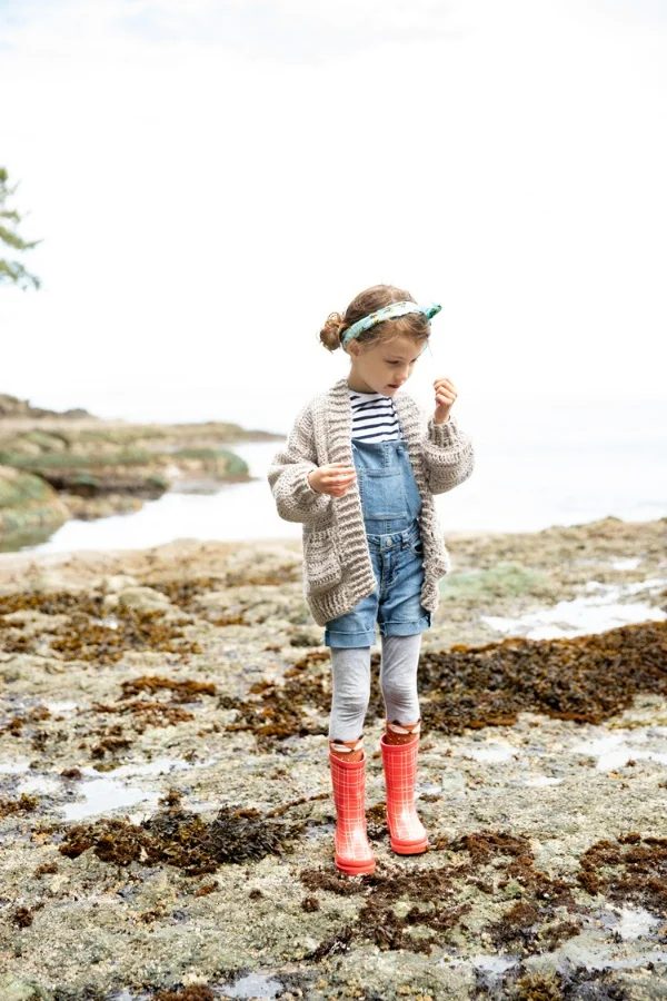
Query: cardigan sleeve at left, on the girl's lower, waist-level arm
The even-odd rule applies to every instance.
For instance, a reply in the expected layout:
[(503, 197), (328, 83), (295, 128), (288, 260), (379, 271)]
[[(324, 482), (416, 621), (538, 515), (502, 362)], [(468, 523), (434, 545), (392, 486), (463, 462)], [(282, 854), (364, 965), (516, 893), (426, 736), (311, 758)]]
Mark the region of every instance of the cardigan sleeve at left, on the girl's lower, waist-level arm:
[(286, 522), (315, 522), (329, 512), (331, 495), (313, 490), (308, 483), (308, 474), (318, 467), (316, 458), (312, 412), (306, 404), (267, 473), (278, 514)]

